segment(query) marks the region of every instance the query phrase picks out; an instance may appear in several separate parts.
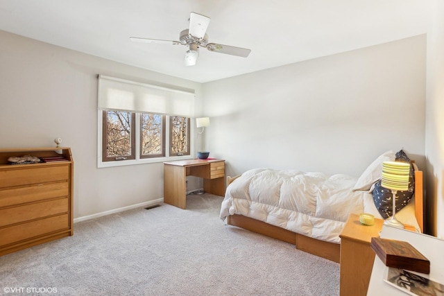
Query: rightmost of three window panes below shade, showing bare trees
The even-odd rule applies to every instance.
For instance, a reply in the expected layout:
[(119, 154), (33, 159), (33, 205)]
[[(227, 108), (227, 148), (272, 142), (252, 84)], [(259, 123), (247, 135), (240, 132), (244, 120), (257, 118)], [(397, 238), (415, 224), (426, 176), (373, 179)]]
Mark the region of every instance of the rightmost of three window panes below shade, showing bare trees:
[(170, 155), (190, 155), (189, 118), (182, 116), (170, 116), (170, 124)]

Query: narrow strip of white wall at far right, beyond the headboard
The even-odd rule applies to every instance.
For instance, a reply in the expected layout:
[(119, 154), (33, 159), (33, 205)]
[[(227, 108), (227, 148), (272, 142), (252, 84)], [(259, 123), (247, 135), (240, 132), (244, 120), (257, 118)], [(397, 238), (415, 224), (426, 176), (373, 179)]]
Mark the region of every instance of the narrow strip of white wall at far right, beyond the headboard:
[(427, 35), (427, 204), (429, 232), (444, 239), (444, 3)]

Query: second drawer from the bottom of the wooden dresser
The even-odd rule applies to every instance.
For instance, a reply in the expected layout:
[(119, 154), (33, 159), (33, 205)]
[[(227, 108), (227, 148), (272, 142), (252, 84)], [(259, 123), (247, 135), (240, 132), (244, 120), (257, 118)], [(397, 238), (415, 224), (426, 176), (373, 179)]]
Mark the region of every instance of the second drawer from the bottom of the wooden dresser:
[(68, 212), (68, 198), (0, 209), (0, 227)]

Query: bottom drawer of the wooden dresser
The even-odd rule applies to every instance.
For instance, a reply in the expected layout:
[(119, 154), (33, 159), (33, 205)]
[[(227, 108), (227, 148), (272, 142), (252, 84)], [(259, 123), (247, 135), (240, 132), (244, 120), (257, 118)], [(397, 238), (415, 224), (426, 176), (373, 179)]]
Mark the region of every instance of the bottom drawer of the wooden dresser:
[(69, 229), (67, 214), (0, 228), (0, 247), (65, 229)]

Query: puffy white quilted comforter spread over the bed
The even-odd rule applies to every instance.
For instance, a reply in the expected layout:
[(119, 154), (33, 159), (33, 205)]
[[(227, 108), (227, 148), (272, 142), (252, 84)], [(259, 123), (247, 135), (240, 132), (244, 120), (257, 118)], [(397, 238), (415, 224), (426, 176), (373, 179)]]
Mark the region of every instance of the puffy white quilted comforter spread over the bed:
[(371, 193), (352, 191), (356, 182), (357, 178), (348, 175), (255, 168), (227, 187), (221, 219), (240, 214), (339, 243), (350, 214), (375, 212)]

